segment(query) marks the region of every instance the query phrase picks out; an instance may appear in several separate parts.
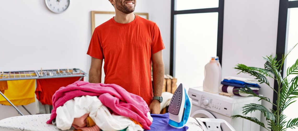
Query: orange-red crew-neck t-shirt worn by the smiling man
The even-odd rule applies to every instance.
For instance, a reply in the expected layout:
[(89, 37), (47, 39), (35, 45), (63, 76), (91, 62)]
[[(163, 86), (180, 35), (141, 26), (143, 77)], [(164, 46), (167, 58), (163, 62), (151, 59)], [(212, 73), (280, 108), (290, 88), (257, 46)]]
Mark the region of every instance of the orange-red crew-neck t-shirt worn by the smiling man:
[(87, 54), (104, 60), (105, 84), (117, 84), (150, 105), (151, 56), (164, 44), (156, 23), (135, 16), (128, 24), (112, 18), (96, 27)]

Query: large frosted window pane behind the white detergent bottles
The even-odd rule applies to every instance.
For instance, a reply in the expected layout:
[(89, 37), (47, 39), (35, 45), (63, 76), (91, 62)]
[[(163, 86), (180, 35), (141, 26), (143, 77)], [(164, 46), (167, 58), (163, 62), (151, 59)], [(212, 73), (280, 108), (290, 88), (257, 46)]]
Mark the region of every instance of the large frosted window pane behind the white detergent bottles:
[(204, 67), (217, 51), (218, 13), (176, 15), (177, 85), (203, 86)]

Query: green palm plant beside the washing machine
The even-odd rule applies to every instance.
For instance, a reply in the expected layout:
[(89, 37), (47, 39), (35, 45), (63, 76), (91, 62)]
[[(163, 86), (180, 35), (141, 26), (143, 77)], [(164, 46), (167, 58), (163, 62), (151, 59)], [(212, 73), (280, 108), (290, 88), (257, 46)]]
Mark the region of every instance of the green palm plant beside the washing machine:
[[(296, 47), (297, 44), (294, 47)], [(244, 116), (233, 115), (232, 118), (247, 119), (256, 124), (259, 124), (261, 127), (264, 127), (269, 131), (285, 131), (288, 128), (294, 129), (298, 127), (298, 118), (287, 120), (287, 116), (282, 113), (283, 110), (285, 110), (290, 104), (296, 101), (295, 98), (298, 98), (298, 59), (291, 67), (288, 67), (288, 69), (286, 70), (285, 77), (282, 77), (281, 75), (281, 70), (283, 68), (285, 59), (288, 56), (288, 54), (293, 50), (293, 48), (289, 50), (287, 54), (283, 55), (282, 59), (279, 61), (277, 61), (277, 56), (273, 57), (273, 55), (270, 55), (263, 57), (266, 60), (264, 68), (248, 67), (244, 64), (237, 64), (235, 66), (235, 69), (237, 69), (239, 73), (246, 73), (252, 75), (260, 83), (265, 83), (269, 87), (271, 87), (271, 89), (277, 94), (277, 101), (276, 103), (273, 103), (269, 98), (257, 95), (250, 88), (247, 87), (237, 89), (239, 93), (247, 93), (250, 94), (251, 97), (258, 97), (260, 98), (259, 100), (271, 103), (276, 107), (276, 110), (267, 109), (266, 107), (260, 104), (251, 103), (243, 107)], [(274, 88), (269, 84), (268, 79), (266, 77), (273, 78), (274, 81), (277, 81), (277, 90), (274, 90)], [(268, 127), (265, 127), (264, 123), (260, 122), (257, 118), (245, 116), (249, 112), (254, 111), (260, 111), (266, 117)]]

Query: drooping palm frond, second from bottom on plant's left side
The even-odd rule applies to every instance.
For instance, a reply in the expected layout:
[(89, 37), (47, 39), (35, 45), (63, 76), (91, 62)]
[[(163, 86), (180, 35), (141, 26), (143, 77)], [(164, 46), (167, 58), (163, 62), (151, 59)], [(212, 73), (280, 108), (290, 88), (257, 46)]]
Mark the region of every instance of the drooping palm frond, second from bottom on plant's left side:
[(251, 113), (253, 111), (259, 110), (260, 112), (262, 112), (264, 114), (264, 116), (266, 117), (266, 120), (275, 120), (275, 116), (272, 112), (270, 112), (266, 107), (260, 105), (260, 104), (246, 104), (244, 107), (244, 109), (242, 110), (244, 115), (247, 115), (248, 113)]

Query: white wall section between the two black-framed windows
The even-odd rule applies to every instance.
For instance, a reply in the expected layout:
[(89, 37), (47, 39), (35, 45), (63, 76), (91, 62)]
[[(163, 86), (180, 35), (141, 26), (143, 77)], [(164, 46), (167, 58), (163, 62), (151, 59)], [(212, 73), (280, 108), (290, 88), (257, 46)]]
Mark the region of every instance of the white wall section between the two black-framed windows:
[[(233, 67), (245, 64), (264, 67), (262, 56), (275, 54), (278, 0), (225, 0), (222, 75), (236, 76)], [(240, 77), (253, 78), (243, 73)], [(273, 79), (268, 79), (273, 87)], [(261, 84), (260, 94), (273, 100), (273, 91)], [(271, 104), (262, 101), (267, 108)], [(262, 118), (265, 122), (265, 118)], [(266, 123), (264, 123), (267, 125)], [(264, 129), (262, 129), (264, 130)]]

